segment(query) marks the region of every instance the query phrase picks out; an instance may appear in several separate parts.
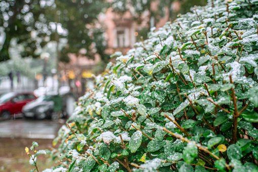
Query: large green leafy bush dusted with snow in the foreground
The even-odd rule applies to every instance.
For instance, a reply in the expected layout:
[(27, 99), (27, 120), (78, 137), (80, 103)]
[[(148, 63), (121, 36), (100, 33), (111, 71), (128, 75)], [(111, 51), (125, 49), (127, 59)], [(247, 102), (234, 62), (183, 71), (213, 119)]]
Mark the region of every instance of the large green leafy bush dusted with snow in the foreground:
[(258, 170), (258, 1), (192, 10), (114, 54), (59, 130), (55, 171)]

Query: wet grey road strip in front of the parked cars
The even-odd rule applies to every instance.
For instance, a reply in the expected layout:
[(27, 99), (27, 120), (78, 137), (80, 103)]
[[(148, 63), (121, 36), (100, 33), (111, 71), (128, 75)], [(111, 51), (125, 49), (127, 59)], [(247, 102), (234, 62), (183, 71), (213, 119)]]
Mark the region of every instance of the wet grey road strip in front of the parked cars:
[(64, 120), (24, 120), (0, 121), (0, 137), (54, 139)]

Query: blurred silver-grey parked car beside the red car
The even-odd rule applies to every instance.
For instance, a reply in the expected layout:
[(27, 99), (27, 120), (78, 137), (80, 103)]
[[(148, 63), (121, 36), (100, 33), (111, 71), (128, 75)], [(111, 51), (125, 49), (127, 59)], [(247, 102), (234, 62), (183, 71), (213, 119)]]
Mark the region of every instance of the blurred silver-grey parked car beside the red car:
[(53, 119), (66, 116), (65, 98), (58, 94), (42, 95), (22, 108), (24, 118)]

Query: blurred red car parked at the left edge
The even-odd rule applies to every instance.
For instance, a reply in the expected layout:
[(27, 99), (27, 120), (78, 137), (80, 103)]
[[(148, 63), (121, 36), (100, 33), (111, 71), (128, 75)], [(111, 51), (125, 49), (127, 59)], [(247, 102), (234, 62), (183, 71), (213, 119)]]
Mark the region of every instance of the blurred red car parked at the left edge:
[(0, 117), (10, 119), (11, 115), (21, 114), (21, 109), (28, 102), (36, 99), (33, 93), (9, 92), (0, 96)]

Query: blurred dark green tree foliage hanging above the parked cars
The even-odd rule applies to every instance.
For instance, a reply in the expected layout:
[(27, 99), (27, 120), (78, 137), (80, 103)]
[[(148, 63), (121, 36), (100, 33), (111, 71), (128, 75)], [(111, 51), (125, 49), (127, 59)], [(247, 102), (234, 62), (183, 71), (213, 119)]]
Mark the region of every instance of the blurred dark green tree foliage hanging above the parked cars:
[[(59, 42), (59, 38), (68, 40), (59, 57), (63, 61), (67, 61), (67, 53), (78, 53), (81, 48), (87, 50), (89, 57), (93, 53), (106, 57), (102, 36), (104, 29), (95, 28), (94, 23), (107, 6), (104, 0), (4, 0), (0, 3), (0, 27), (5, 32), (0, 61), (10, 58), (9, 47), (13, 38), (24, 46), (23, 57), (39, 57), (36, 49), (43, 48), (49, 41)], [(91, 27), (86, 27), (86, 24)], [(37, 39), (31, 38), (33, 34)]]

